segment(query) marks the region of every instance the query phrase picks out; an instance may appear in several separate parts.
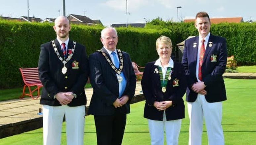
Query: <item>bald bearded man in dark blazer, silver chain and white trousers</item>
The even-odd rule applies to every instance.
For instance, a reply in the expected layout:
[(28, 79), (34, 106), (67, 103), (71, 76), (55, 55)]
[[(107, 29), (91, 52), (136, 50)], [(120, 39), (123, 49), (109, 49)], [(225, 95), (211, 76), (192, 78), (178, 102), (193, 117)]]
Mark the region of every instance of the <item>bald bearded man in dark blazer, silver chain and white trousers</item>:
[(53, 26), (57, 38), (41, 45), (38, 62), (43, 84), (44, 145), (60, 145), (65, 114), (67, 145), (83, 145), (86, 96), (89, 75), (85, 47), (68, 38), (69, 21), (60, 16)]

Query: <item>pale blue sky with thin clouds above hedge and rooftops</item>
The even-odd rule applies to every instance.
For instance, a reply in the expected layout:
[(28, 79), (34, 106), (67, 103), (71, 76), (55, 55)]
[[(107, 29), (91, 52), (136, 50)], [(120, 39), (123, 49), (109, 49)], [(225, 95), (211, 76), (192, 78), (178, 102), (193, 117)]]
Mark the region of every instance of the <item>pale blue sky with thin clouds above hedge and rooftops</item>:
[[(244, 21), (256, 21), (255, 0), (65, 0), (65, 13), (100, 19), (104, 26), (126, 23), (126, 1), (128, 23), (143, 23), (158, 16), (165, 21), (177, 21), (177, 17), (179, 21), (194, 19), (200, 11), (207, 12), (210, 18), (243, 17)], [(28, 0), (29, 16), (56, 18), (63, 15), (62, 3), (63, 0)], [(0, 16), (27, 16), (27, 0), (0, 0)]]

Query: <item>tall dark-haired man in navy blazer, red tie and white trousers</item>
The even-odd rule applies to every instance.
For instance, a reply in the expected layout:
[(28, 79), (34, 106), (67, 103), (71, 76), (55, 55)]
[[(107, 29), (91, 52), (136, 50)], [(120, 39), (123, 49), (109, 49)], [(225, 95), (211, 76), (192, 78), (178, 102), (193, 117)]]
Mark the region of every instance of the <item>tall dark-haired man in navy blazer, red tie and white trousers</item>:
[(188, 79), (189, 145), (201, 144), (203, 118), (209, 145), (224, 145), (222, 101), (227, 97), (222, 74), (227, 64), (227, 42), (210, 34), (211, 22), (205, 12), (196, 14), (195, 27), (199, 36), (185, 41), (182, 58)]

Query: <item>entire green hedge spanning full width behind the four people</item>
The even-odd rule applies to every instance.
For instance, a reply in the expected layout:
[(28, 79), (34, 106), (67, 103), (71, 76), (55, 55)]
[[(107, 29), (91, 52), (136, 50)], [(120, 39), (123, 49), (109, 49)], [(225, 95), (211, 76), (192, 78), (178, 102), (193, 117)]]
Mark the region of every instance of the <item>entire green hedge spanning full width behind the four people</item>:
[[(70, 40), (85, 45), (87, 54), (102, 48), (102, 26), (71, 25)], [(212, 25), (211, 33), (227, 39), (228, 55), (238, 65), (256, 64), (256, 24), (222, 23)], [(117, 48), (130, 54), (140, 66), (158, 58), (155, 41), (161, 35), (176, 46), (188, 36), (198, 35), (193, 23), (152, 21), (146, 28), (117, 28)], [(40, 45), (56, 38), (53, 23), (27, 23), (0, 20), (0, 89), (22, 87), (19, 68), (37, 67)], [(175, 48), (173, 48), (173, 51)]]

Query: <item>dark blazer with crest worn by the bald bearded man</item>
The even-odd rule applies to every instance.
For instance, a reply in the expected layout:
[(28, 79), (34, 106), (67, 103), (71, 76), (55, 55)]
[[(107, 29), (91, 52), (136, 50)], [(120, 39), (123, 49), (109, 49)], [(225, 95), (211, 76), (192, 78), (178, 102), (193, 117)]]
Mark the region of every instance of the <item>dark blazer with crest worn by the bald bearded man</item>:
[[(57, 39), (54, 40), (56, 47), (63, 58), (61, 46)], [(69, 40), (68, 49), (72, 49), (73, 41)], [(79, 69), (72, 69), (72, 63), (78, 62)], [(54, 95), (59, 92), (73, 92), (77, 95), (68, 106), (79, 106), (86, 104), (84, 91), (85, 83), (89, 75), (89, 62), (86, 56), (85, 47), (76, 43), (72, 58), (66, 63), (67, 72), (62, 73), (64, 64), (54, 52), (52, 42), (41, 45), (41, 52), (38, 61), (39, 78), (43, 84), (40, 104), (60, 106), (61, 104)], [(66, 87), (66, 88), (65, 88)]]

